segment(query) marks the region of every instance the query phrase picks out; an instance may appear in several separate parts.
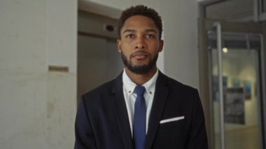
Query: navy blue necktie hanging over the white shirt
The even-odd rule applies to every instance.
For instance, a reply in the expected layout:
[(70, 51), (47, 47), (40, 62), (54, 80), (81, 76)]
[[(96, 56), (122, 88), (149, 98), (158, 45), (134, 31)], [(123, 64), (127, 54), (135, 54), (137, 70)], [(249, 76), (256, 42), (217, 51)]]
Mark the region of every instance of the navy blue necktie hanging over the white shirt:
[(146, 138), (146, 103), (144, 99), (145, 87), (135, 87), (137, 99), (134, 107), (133, 139), (135, 149), (144, 149)]

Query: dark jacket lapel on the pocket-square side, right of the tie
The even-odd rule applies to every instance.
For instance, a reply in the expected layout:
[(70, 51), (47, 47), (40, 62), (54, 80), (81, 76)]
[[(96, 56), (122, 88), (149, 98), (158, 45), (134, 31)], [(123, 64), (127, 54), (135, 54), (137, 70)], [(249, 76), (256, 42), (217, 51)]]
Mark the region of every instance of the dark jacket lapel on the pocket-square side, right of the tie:
[(155, 95), (153, 99), (153, 106), (151, 108), (151, 115), (148, 122), (148, 133), (146, 135), (146, 149), (151, 148), (155, 135), (157, 134), (162, 113), (165, 109), (167, 101), (167, 77), (159, 71), (158, 79), (155, 86)]

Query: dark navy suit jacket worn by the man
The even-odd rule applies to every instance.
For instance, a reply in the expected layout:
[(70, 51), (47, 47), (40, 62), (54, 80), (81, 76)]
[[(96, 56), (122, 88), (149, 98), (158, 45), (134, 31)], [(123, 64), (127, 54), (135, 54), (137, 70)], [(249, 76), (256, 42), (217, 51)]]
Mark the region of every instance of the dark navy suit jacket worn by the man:
[[(160, 124), (161, 120), (173, 120)], [(182, 119), (183, 118), (183, 119)], [(134, 149), (122, 73), (84, 94), (76, 115), (75, 149)], [(204, 113), (196, 89), (159, 72), (146, 149), (207, 149)]]

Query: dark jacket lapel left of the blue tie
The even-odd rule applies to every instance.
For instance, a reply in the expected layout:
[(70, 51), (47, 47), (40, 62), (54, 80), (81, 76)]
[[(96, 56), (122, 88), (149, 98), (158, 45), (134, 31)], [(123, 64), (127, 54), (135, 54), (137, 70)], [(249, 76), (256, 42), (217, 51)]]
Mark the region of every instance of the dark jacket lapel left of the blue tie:
[(124, 147), (133, 149), (130, 121), (123, 94), (122, 73), (118, 76), (118, 78), (116, 78), (112, 93), (114, 94), (113, 105), (115, 108), (114, 110), (116, 111), (116, 119), (118, 121), (118, 128), (123, 139)]

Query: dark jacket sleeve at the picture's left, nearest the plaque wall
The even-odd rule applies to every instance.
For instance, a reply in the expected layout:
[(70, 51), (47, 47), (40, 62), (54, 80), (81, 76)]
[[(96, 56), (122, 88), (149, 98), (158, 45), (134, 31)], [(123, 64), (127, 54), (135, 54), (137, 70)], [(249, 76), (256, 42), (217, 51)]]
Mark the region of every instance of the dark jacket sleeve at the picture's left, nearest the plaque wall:
[(87, 115), (85, 99), (80, 100), (75, 122), (75, 146), (74, 149), (96, 149), (96, 141), (90, 119)]

